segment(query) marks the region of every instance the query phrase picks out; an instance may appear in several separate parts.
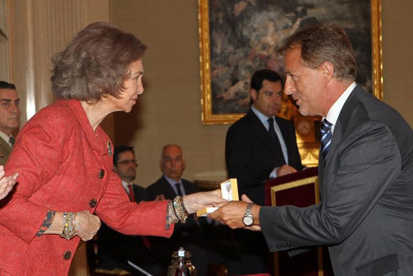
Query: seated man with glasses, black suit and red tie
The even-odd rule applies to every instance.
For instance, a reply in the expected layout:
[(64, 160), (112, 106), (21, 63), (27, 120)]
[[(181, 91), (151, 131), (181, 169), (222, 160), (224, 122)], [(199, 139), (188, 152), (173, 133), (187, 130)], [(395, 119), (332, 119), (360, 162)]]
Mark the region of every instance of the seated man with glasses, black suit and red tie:
[[(122, 180), (123, 188), (134, 202), (149, 201), (149, 193), (133, 183), (136, 178), (134, 147), (117, 146), (114, 151), (114, 172)], [(98, 231), (98, 268), (112, 270), (122, 268), (133, 275), (140, 272), (129, 266), (131, 260), (152, 275), (160, 276), (161, 269), (158, 260), (151, 255), (151, 244), (147, 237), (123, 235), (109, 228), (102, 222)]]

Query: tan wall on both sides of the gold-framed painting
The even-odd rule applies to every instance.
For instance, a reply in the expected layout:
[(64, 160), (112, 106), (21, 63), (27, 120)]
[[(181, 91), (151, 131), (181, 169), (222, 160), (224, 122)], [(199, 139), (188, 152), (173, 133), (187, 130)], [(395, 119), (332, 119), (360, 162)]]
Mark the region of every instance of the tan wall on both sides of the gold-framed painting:
[[(383, 0), (384, 100), (413, 125), (413, 2)], [(116, 143), (136, 148), (136, 183), (147, 186), (160, 176), (160, 149), (182, 145), (185, 178), (220, 171), (226, 125), (200, 120), (198, 1), (111, 1), (111, 20), (149, 45), (144, 58), (145, 94), (131, 114), (116, 114)], [(405, 53), (405, 54), (403, 54)]]

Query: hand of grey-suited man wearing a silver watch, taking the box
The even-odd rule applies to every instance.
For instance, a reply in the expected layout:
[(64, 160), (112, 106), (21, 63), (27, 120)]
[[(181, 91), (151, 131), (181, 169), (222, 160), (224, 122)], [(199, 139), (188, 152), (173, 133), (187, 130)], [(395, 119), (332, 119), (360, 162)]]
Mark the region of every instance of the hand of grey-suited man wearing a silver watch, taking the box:
[(252, 202), (246, 195), (242, 195), (242, 201), (231, 201), (231, 202), (221, 202), (218, 204), (213, 204), (219, 209), (208, 215), (209, 218), (213, 220), (218, 220), (222, 224), (225, 224), (232, 229), (249, 229), (252, 231), (261, 231), (259, 225), (258, 214), (260, 213), (260, 206), (253, 205), (253, 217), (254, 224), (252, 226), (246, 227), (244, 222), (242, 222), (242, 217), (244, 217), (246, 205), (248, 202)]

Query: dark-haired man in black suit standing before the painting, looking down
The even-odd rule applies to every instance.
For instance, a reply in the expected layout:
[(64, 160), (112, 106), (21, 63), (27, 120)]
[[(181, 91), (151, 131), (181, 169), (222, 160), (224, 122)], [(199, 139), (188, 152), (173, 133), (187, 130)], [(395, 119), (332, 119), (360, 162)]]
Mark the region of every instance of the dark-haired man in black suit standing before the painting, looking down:
[[(292, 122), (275, 116), (282, 103), (282, 79), (273, 70), (258, 70), (251, 78), (251, 109), (226, 133), (229, 178), (237, 178), (240, 194), (265, 204), (264, 180), (303, 169)], [(237, 231), (242, 247), (242, 273), (268, 271), (268, 247), (262, 233)]]

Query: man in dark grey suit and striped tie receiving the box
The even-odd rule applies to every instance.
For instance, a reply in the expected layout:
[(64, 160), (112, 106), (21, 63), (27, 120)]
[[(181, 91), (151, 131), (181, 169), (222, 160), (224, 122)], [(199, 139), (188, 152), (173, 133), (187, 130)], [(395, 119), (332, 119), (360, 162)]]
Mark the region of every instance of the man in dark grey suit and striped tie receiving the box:
[(357, 65), (343, 29), (299, 30), (286, 41), (284, 61), (285, 93), (301, 114), (324, 117), (321, 203), (231, 202), (212, 217), (261, 229), (272, 251), (327, 245), (336, 276), (413, 275), (412, 129), (354, 83)]

